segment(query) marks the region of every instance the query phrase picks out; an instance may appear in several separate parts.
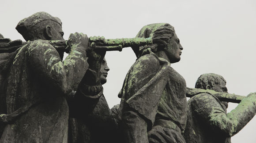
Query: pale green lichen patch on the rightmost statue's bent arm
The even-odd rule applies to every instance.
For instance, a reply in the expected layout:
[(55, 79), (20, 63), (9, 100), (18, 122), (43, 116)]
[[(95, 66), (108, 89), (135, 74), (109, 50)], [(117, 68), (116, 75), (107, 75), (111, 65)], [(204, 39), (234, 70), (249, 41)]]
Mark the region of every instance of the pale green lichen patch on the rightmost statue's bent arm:
[[(211, 109), (209, 113), (209, 123), (218, 129), (225, 132), (229, 136), (233, 136), (239, 132), (248, 122), (248, 118), (251, 119), (255, 114), (255, 103), (256, 103), (256, 93), (251, 93), (250, 96), (241, 100), (241, 103), (233, 109), (230, 113), (226, 114), (222, 107), (212, 106), (213, 100), (215, 100), (211, 95), (201, 93), (197, 95), (200, 101), (203, 101), (205, 109)], [(200, 110), (196, 110), (200, 112)]]

